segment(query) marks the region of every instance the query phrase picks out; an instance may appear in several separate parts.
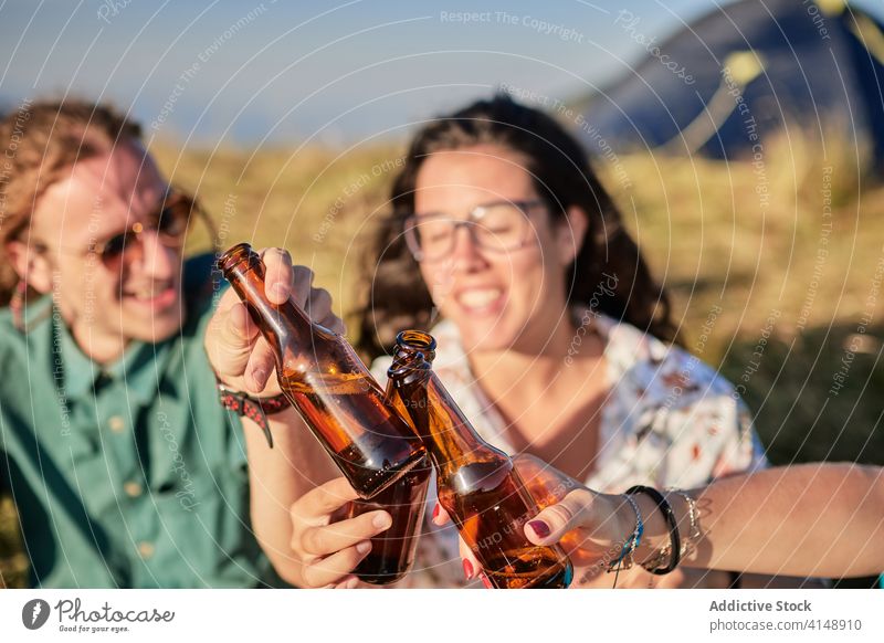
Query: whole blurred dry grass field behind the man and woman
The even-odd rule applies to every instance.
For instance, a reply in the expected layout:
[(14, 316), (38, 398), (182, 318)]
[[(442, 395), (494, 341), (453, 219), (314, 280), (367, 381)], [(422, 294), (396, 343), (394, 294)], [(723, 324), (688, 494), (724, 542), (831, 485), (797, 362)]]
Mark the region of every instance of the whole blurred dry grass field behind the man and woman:
[[(683, 344), (745, 386), (778, 464), (884, 464), (884, 188), (836, 147), (770, 141), (756, 166), (650, 154), (599, 164), (673, 295)], [(359, 250), (401, 149), (155, 151), (198, 191), (221, 245), (284, 245), (339, 313), (361, 302)], [(207, 240), (196, 232), (192, 245)], [(6, 500), (0, 573), (19, 586), (25, 569)]]

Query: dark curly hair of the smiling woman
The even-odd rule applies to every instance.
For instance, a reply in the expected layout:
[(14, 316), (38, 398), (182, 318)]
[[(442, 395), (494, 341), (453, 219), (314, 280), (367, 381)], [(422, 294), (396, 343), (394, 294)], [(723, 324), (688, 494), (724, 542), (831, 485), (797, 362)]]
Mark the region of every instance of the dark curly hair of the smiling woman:
[[(369, 298), (356, 313), (360, 352), (373, 359), (391, 350), (399, 330), (430, 329), (433, 302), (404, 242), (403, 222), (414, 211), (423, 161), (438, 151), (478, 145), (495, 145), (525, 157), (525, 169), (554, 218), (564, 218), (572, 205), (587, 213), (583, 244), (567, 268), (569, 305), (592, 304), (597, 312), (662, 340), (676, 340), (669, 296), (651, 277), (586, 151), (554, 118), (502, 94), (431, 120), (411, 141), (393, 181), (392, 215), (380, 223), (366, 255), (367, 283), (361, 292), (369, 293)], [(617, 276), (613, 296), (593, 297), (601, 283), (610, 285), (606, 274)]]

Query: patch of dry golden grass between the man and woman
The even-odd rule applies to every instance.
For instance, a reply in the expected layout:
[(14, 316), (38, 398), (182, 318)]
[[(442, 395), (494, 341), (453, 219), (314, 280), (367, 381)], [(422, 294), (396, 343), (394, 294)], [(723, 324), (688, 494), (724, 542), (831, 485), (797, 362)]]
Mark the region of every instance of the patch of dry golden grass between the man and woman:
[[(173, 180), (196, 190), (212, 213), (219, 245), (248, 240), (286, 247), (311, 266), (339, 310), (354, 306), (364, 234), (386, 209), (398, 149), (156, 150)], [(197, 233), (194, 246), (206, 247)]]

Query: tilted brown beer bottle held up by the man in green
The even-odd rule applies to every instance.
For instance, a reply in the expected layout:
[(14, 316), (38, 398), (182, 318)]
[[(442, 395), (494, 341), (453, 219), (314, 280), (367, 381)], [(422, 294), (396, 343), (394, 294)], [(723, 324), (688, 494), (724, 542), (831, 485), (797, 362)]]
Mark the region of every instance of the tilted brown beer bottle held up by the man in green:
[(272, 347), (283, 392), (360, 497), (375, 496), (420, 462), (420, 440), (383, 403), (346, 339), (291, 301), (267, 299), (264, 264), (248, 243), (228, 250), (218, 265)]

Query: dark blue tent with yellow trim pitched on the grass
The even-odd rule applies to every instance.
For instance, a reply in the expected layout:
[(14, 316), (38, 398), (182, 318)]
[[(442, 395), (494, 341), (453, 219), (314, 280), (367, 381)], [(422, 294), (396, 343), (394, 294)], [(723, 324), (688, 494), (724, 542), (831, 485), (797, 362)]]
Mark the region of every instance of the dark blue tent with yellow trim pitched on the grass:
[[(884, 27), (843, 0), (740, 0), (665, 42), (617, 18), (648, 56), (582, 105), (617, 149), (746, 158), (788, 126), (862, 141), (884, 167)], [(797, 133), (793, 133), (797, 134)]]

